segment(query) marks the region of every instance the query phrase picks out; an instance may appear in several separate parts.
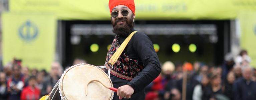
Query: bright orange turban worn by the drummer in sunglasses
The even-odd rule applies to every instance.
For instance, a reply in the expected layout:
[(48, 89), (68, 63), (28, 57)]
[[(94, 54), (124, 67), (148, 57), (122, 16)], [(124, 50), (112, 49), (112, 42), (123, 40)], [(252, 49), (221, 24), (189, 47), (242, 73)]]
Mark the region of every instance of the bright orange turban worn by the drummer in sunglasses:
[(132, 10), (133, 14), (135, 15), (135, 4), (134, 0), (109, 0), (108, 7), (110, 10), (110, 13), (112, 9), (118, 5), (124, 5)]

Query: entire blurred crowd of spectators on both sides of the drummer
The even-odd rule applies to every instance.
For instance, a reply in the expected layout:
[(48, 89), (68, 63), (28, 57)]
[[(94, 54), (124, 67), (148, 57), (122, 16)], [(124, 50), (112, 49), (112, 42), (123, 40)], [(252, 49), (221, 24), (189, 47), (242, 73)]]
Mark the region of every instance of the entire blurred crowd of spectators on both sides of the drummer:
[[(225, 56), (221, 66), (202, 62), (162, 64), (161, 74), (146, 88), (145, 100), (256, 100), (256, 69), (245, 50)], [(86, 63), (75, 59), (73, 65)], [(187, 68), (187, 73), (184, 73)], [(0, 100), (38, 100), (49, 94), (63, 73), (59, 62), (51, 70), (29, 69), (13, 60), (0, 72)], [(186, 75), (186, 89), (183, 81)], [(185, 91), (185, 92), (184, 92)], [(186, 93), (186, 95), (182, 95)]]

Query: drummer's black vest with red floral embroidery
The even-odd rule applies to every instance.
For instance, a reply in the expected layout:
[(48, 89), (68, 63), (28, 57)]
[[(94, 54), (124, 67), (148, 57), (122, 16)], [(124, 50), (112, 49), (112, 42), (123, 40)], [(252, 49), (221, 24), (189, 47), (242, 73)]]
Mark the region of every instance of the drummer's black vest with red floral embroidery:
[[(106, 62), (112, 57), (115, 51), (120, 46), (120, 42), (118, 41), (117, 36), (115, 36), (110, 49), (107, 52)], [(108, 66), (111, 66), (108, 64)], [(120, 57), (117, 59), (115, 64), (113, 65), (113, 69), (110, 71), (116, 77), (132, 80), (139, 72), (144, 68), (142, 62), (139, 62), (138, 59), (131, 59), (131, 57), (127, 56), (123, 51)]]

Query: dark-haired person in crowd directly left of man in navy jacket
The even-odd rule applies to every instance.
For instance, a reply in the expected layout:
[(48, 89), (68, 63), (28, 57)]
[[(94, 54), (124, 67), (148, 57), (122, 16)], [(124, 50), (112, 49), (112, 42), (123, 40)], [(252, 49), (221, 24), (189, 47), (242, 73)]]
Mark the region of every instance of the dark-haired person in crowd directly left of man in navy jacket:
[(233, 91), (233, 83), (236, 80), (235, 73), (233, 71), (230, 71), (227, 75), (226, 81), (225, 81), (225, 92), (224, 95), (230, 98), (230, 100), (234, 100), (234, 95), (232, 93)]

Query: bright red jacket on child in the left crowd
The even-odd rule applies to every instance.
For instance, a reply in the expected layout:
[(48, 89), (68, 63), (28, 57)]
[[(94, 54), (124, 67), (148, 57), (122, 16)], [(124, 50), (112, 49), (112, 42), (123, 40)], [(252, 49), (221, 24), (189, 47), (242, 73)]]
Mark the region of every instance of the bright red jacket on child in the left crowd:
[(40, 90), (38, 88), (32, 89), (30, 86), (23, 88), (20, 96), (21, 100), (39, 100)]

